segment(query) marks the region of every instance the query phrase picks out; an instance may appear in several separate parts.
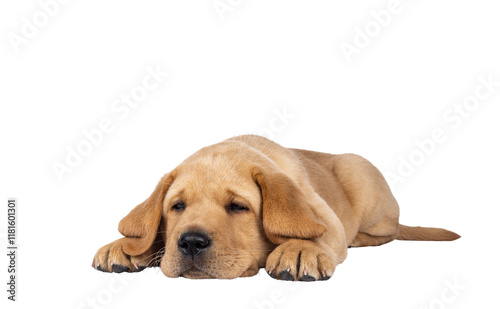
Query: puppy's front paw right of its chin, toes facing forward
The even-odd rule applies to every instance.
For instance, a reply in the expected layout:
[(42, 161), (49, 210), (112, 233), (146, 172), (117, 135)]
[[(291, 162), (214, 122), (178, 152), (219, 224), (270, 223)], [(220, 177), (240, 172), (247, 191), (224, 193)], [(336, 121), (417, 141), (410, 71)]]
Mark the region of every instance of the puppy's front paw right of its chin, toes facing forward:
[(266, 262), (267, 273), (290, 281), (328, 280), (335, 271), (334, 259), (320, 245), (291, 239), (279, 245)]

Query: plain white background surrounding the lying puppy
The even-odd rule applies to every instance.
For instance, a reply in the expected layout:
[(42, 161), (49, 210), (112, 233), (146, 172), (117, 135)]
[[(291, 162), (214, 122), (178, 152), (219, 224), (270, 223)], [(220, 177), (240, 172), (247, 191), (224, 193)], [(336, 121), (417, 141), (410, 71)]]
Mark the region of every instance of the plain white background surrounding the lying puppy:
[[(223, 0), (232, 10), (222, 15), (212, 0), (68, 1), (47, 20), (39, 3), (0, 4), (2, 213), (7, 198), (19, 201), (19, 301), (1, 292), (8, 308), (92, 308), (92, 299), (97, 308), (498, 307), (500, 87), (466, 115), (453, 112), (480, 78), (500, 81), (496, 2), (401, 0), (378, 28), (371, 12), (389, 1)], [(13, 44), (34, 17), (36, 33)], [(349, 62), (341, 45), (356, 38)], [(147, 67), (170, 75), (121, 119), (111, 106)], [(58, 179), (54, 162), (65, 164), (68, 147), (103, 119), (113, 131)], [(416, 143), (436, 129), (446, 138), (422, 156)], [(401, 222), (462, 238), (350, 249), (327, 282), (90, 267), (165, 172), (203, 146), (259, 132), (360, 154), (386, 176), (412, 158), (392, 184)], [(5, 254), (0, 265), (5, 291)]]

